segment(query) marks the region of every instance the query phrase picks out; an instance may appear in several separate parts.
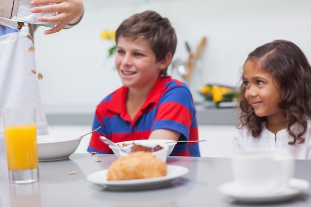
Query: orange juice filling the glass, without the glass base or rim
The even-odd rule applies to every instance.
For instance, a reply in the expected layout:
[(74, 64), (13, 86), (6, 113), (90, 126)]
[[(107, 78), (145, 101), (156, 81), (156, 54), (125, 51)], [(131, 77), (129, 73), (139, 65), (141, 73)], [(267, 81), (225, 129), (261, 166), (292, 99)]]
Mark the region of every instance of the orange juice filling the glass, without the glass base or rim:
[(9, 170), (38, 167), (36, 125), (4, 126), (7, 165)]

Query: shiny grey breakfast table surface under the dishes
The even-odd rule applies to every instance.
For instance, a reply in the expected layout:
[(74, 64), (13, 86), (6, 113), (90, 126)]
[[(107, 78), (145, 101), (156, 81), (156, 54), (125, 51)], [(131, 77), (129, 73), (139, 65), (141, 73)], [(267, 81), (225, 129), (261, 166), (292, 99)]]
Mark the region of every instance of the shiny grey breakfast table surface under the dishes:
[[(109, 189), (87, 177), (109, 168), (114, 154), (74, 153), (68, 159), (39, 162), (40, 181), (10, 185), (5, 155), (0, 155), (0, 207), (310, 207), (311, 188), (268, 203), (235, 201), (218, 191), (231, 182), (230, 158), (169, 156), (167, 165), (188, 173), (157, 188)], [(311, 160), (295, 161), (295, 178), (311, 182)], [(263, 199), (264, 200), (264, 199)], [(262, 201), (264, 202), (264, 201)]]

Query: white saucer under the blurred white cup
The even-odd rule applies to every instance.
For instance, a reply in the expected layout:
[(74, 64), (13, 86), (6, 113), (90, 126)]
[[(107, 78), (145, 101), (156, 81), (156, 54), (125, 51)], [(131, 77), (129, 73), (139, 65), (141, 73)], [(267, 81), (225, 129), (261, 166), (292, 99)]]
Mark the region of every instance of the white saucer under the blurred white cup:
[(266, 202), (275, 202), (275, 201), (282, 201), (282, 200), (288, 200), (295, 196), (297, 196), (299, 193), (301, 193), (303, 190), (308, 189), (310, 186), (309, 182), (302, 179), (292, 178), (289, 183), (288, 187), (284, 189), (281, 192), (278, 193), (266, 193), (266, 194), (242, 194), (241, 192), (236, 191), (237, 186), (234, 181), (225, 183), (221, 185), (218, 190), (220, 193), (234, 199), (237, 201), (242, 202), (255, 202), (255, 203), (266, 203)]

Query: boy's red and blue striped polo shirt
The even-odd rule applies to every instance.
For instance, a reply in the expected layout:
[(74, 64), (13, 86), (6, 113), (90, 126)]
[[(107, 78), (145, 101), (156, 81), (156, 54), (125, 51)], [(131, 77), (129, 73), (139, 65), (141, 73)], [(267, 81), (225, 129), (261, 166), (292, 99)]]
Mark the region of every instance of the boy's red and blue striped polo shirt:
[[(179, 140), (198, 140), (196, 109), (185, 83), (170, 76), (159, 77), (133, 120), (126, 111), (127, 94), (128, 88), (122, 86), (97, 105), (92, 128), (101, 128), (92, 134), (89, 152), (112, 153), (99, 136), (114, 142), (148, 139), (157, 129), (179, 132)], [(177, 143), (170, 155), (200, 156), (199, 145)]]

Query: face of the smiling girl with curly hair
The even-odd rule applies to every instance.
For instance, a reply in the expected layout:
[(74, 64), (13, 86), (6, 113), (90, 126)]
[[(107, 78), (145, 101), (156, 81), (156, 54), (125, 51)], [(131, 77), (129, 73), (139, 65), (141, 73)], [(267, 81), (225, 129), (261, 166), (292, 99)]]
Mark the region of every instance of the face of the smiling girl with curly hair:
[(277, 106), (281, 97), (279, 84), (276, 80), (273, 81), (269, 72), (257, 65), (252, 61), (246, 61), (244, 64), (245, 98), (258, 117), (283, 119), (282, 110)]

